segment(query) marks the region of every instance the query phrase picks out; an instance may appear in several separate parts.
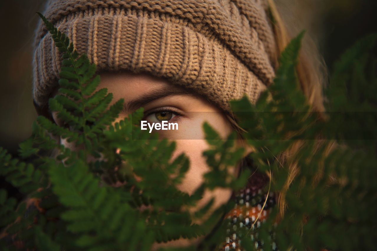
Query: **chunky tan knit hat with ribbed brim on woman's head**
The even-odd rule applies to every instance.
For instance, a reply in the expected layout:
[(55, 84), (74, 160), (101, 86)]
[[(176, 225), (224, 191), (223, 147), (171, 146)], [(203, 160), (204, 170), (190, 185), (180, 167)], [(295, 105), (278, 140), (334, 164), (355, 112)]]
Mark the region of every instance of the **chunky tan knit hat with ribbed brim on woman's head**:
[[(44, 15), (98, 72), (163, 77), (228, 110), (244, 94), (255, 102), (273, 80), (277, 52), (266, 9), (265, 0), (50, 0)], [(41, 113), (61, 64), (42, 22), (34, 47)]]

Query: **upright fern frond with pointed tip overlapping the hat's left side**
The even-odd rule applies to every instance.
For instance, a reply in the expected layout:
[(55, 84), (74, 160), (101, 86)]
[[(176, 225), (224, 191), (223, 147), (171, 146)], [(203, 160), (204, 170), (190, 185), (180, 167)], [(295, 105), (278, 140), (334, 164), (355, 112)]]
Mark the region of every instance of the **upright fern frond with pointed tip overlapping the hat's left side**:
[(59, 129), (45, 120), (41, 121), (43, 128), (68, 138), (69, 141), (75, 141), (77, 146), (83, 144), (84, 157), (88, 154), (98, 157), (99, 144), (103, 140), (100, 134), (118, 116), (123, 108), (121, 101), (107, 109), (113, 96), (107, 93), (106, 88), (94, 93), (100, 84), (100, 76), (95, 76), (95, 64), (90, 64), (86, 55), (79, 57), (67, 36), (58, 31), (43, 15), (38, 15), (46, 24), (55, 45), (63, 52), (59, 80), (59, 92), (63, 95), (50, 99), (49, 106), (52, 111), (57, 111), (58, 117), (74, 132), (70, 133), (65, 128)]

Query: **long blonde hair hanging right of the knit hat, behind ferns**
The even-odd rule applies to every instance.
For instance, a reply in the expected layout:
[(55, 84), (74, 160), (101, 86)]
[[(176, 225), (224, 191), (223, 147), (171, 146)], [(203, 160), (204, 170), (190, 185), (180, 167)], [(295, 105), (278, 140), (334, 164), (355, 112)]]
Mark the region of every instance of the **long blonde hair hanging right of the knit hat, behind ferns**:
[[(275, 37), (275, 43), (277, 46), (277, 52), (280, 53), (285, 49), (288, 43), (291, 41), (292, 36), (289, 34), (287, 27), (285, 26), (284, 21), (282, 20), (277, 7), (273, 0), (268, 0), (269, 5), (269, 14), (271, 19), (271, 24), (273, 26), (273, 32)], [(274, 62), (277, 67), (279, 65), (277, 62)], [(275, 70), (276, 70), (275, 69)], [(326, 83), (326, 67), (324, 64), (323, 59), (321, 58), (314, 42), (310, 39), (306, 39), (305, 42), (302, 44), (302, 49), (300, 51), (298, 64), (296, 66), (296, 73), (299, 82), (300, 89), (302, 90), (303, 94), (307, 97), (308, 103), (311, 106), (311, 111), (317, 112), (319, 114), (320, 120), (325, 120), (325, 107), (323, 105), (324, 97), (323, 97), (323, 88), (325, 87)], [(236, 120), (234, 120), (233, 116), (227, 116), (228, 120), (230, 120), (231, 126), (239, 133), (245, 131), (241, 128)], [(317, 151), (320, 146), (325, 143), (325, 140), (321, 140), (317, 138), (317, 148), (314, 150)], [(280, 153), (275, 158), (280, 164), (282, 168), (287, 169), (288, 177), (287, 181), (284, 184), (282, 190), (279, 191), (277, 194), (277, 207), (279, 210), (278, 218), (282, 218), (284, 216), (284, 212), (287, 209), (287, 204), (285, 200), (285, 195), (293, 182), (294, 178), (300, 171), (300, 167), (297, 164), (297, 161), (294, 160), (295, 153), (298, 152), (303, 146), (305, 145), (305, 140), (297, 140), (293, 146), (291, 146), (287, 151)], [(325, 154), (328, 154), (335, 146), (334, 142), (330, 142), (328, 147), (326, 148)], [(271, 173), (266, 173), (270, 179)], [(322, 173), (317, 173), (317, 176), (314, 180), (319, 180), (322, 177)], [(332, 183), (335, 182), (333, 177), (330, 177)], [(313, 186), (315, 184), (312, 184)], [(263, 210), (263, 208), (262, 208)]]

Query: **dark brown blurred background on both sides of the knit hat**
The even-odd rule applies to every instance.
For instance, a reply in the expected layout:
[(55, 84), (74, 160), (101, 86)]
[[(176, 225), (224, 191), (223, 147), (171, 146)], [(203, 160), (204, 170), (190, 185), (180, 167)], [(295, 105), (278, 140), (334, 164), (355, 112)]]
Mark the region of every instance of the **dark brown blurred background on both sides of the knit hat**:
[[(0, 146), (17, 154), (37, 117), (32, 103), (32, 43), (45, 0), (0, 1)], [(376, 0), (275, 0), (288, 28), (313, 38), (331, 72), (357, 39), (377, 31)]]

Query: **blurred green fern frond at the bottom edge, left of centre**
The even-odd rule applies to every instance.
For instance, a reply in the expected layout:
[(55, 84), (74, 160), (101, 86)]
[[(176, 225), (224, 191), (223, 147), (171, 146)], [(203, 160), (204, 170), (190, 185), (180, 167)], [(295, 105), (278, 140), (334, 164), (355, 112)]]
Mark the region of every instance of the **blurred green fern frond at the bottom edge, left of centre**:
[[(83, 163), (55, 167), (49, 175), (54, 193), (69, 208), (61, 214), (69, 222), (67, 229), (81, 234), (79, 246), (87, 250), (95, 250), (97, 245), (98, 250), (127, 250), (126, 243), (135, 238), (129, 226), (140, 221), (136, 211), (121, 203), (116, 190), (99, 186), (99, 180)], [(139, 241), (141, 245), (142, 239)]]

